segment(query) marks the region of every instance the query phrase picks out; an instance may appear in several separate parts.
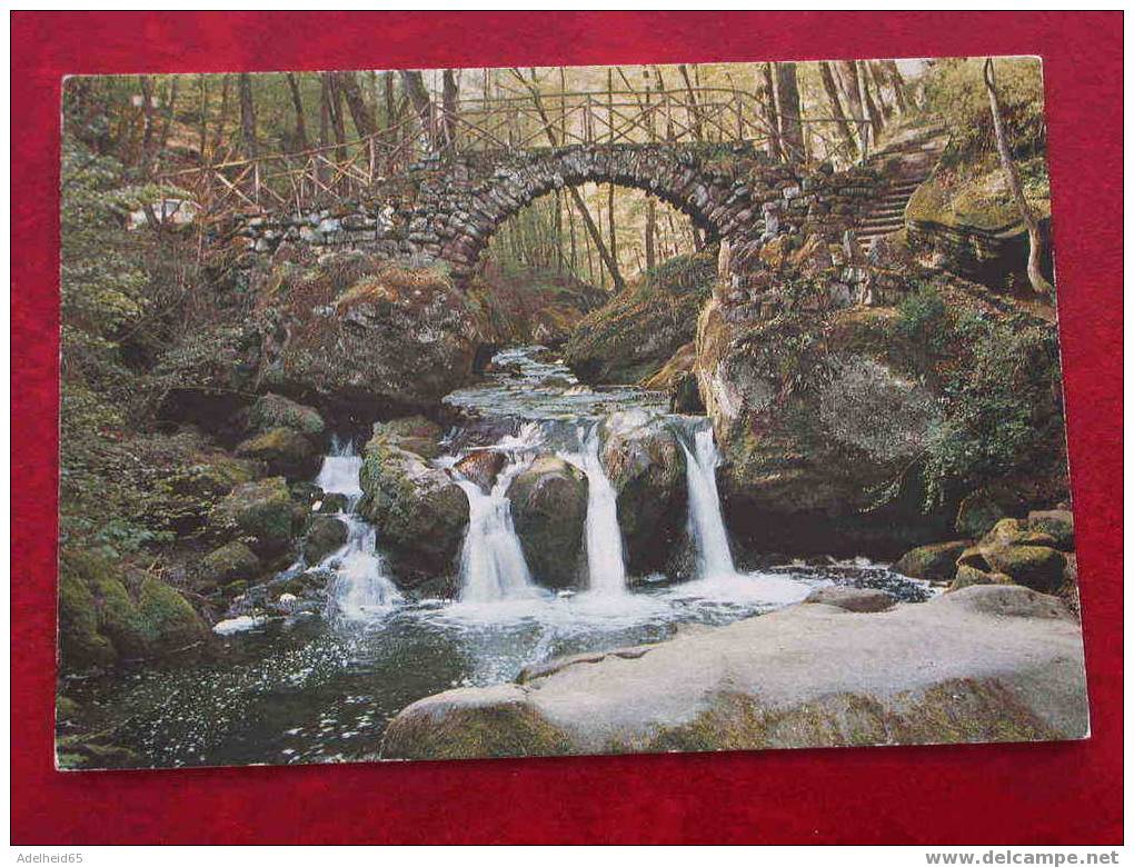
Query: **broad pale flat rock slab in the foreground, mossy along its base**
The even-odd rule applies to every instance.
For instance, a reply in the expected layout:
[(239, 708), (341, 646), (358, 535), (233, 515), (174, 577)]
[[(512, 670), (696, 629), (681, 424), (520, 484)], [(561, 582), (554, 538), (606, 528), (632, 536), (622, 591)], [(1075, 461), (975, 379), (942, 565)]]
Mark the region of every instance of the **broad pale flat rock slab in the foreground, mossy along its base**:
[(1089, 731), (1082, 634), (1056, 598), (968, 587), (879, 613), (830, 604), (449, 690), (382, 758), (1059, 740)]

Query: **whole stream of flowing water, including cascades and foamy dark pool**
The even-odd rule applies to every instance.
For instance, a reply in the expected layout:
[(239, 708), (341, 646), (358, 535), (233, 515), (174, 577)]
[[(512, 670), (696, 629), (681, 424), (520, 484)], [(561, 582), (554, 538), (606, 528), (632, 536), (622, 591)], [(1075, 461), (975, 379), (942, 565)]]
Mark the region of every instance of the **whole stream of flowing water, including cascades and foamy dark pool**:
[[(926, 585), (866, 561), (794, 563), (744, 572), (734, 562), (717, 492), (719, 464), (703, 418), (666, 416), (678, 434), (688, 485), (692, 580), (627, 575), (615, 490), (602, 465), (599, 422), (615, 410), (665, 415), (661, 396), (629, 386), (594, 389), (540, 348), (499, 354), (502, 368), (448, 402), (472, 419), (446, 439), (437, 465), (469, 503), (457, 600), (399, 593), (382, 555), (381, 527), (355, 510), (362, 459), (347, 443), (327, 456), (316, 483), (342, 494), (347, 542), (308, 572), (328, 573), (323, 617), (232, 617), (219, 647), (188, 664), (76, 680), (84, 728), (152, 766), (364, 760), (398, 711), (458, 686), (515, 678), (553, 656), (657, 641), (686, 624), (723, 624), (797, 602), (816, 586), (886, 589), (902, 601)], [(485, 490), (456, 469), (475, 450), (503, 454)], [(532, 575), (507, 498), (513, 479), (541, 454), (558, 454), (587, 479), (586, 579), (552, 593)], [(303, 572), (293, 567), (285, 577)], [(459, 571), (458, 571), (459, 570)], [(270, 583), (263, 593), (271, 596)], [(281, 597), (282, 598), (282, 597)]]

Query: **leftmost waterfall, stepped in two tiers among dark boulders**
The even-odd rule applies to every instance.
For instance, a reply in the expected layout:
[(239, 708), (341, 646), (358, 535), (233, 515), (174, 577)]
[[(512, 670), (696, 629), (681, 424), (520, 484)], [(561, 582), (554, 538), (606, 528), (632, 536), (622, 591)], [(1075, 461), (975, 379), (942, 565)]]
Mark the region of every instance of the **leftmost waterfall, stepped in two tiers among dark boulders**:
[(390, 580), (386, 559), (378, 550), (378, 533), (355, 511), (362, 499), (361, 469), (362, 458), (354, 444), (335, 442), (315, 479), (324, 493), (347, 498), (346, 511), (336, 516), (347, 527), (346, 544), (323, 564), (335, 571), (327, 587), (327, 612), (348, 620), (364, 619), (375, 609), (401, 601), (401, 594)]

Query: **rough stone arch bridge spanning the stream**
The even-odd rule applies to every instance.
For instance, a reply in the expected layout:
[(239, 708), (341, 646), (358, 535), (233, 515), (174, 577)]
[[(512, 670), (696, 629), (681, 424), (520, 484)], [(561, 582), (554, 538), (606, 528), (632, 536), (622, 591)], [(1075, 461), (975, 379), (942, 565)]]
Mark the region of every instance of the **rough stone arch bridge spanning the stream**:
[[(362, 249), (445, 263), (457, 284), (476, 267), (498, 227), (557, 188), (612, 182), (642, 189), (727, 241), (722, 269), (739, 287), (778, 236), (840, 243), (869, 213), (885, 182), (872, 167), (776, 162), (747, 144), (590, 144), (432, 156), (382, 179), (364, 195), (307, 212), (234, 218), (226, 236), (262, 262), (280, 245)], [(847, 265), (854, 258), (850, 247)]]

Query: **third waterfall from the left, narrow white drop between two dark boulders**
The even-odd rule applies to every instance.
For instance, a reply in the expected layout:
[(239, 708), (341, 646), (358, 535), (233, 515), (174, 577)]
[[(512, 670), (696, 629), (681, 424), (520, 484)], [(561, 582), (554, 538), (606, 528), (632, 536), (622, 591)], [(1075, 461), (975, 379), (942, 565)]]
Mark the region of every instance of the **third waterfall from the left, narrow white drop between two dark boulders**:
[(590, 590), (602, 595), (626, 593), (626, 561), (623, 532), (618, 527), (618, 502), (613, 485), (599, 458), (599, 427), (595, 425), (581, 451), (562, 454), (564, 460), (586, 475), (586, 567)]

